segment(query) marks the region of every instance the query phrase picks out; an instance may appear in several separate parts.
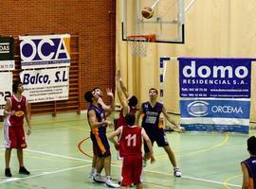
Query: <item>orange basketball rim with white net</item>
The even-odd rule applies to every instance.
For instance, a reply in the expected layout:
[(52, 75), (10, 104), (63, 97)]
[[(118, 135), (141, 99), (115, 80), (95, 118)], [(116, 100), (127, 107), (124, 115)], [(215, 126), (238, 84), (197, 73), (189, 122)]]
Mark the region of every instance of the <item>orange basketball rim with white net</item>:
[(127, 36), (132, 54), (137, 57), (146, 57), (149, 42), (155, 42), (155, 34), (150, 35), (130, 35)]

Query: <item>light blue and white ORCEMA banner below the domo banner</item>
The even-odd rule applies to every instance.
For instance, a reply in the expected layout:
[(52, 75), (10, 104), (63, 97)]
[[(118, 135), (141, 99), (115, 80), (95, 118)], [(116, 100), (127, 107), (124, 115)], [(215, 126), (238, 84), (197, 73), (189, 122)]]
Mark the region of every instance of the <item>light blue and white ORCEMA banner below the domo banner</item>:
[(187, 130), (248, 133), (248, 98), (181, 98), (180, 112), (181, 125)]

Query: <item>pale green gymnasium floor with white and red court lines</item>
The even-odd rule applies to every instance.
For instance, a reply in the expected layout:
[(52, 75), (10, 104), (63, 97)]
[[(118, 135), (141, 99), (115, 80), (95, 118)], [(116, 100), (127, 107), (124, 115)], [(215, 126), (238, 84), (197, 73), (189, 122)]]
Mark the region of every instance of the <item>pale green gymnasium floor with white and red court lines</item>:
[[(178, 117), (176, 117), (178, 119)], [(92, 147), (85, 114), (33, 116), (32, 134), (27, 137), (25, 165), (30, 176), (18, 174), (16, 152), (10, 168), (13, 177), (4, 176), (4, 152), (0, 147), (0, 188), (70, 189), (105, 188), (87, 178)], [(3, 130), (3, 123), (1, 122)], [(250, 130), (255, 134), (256, 130)], [(174, 178), (173, 167), (162, 148), (155, 150), (155, 164), (144, 169), (144, 188), (207, 189), (241, 188), (240, 162), (248, 157), (247, 135), (227, 133), (167, 133), (183, 177)], [(3, 139), (3, 131), (1, 131)], [(1, 143), (3, 144), (3, 143)], [(119, 180), (120, 162), (112, 147), (112, 175)]]

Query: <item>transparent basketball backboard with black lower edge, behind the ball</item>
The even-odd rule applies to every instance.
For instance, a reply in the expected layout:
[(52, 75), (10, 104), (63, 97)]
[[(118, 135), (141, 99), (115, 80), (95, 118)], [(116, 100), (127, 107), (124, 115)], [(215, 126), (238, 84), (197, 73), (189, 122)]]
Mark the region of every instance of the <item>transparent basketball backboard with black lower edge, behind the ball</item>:
[[(155, 43), (185, 43), (184, 0), (121, 0), (122, 40), (129, 36), (155, 34)], [(146, 19), (141, 10), (151, 7), (153, 17)]]

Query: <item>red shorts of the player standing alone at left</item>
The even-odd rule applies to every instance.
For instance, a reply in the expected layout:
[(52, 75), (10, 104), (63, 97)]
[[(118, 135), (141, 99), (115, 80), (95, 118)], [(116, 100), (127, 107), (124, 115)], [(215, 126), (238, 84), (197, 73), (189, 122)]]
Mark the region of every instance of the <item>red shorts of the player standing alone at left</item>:
[(5, 147), (7, 148), (25, 148), (27, 147), (25, 133), (22, 126), (5, 127)]

